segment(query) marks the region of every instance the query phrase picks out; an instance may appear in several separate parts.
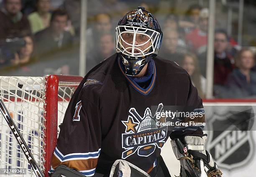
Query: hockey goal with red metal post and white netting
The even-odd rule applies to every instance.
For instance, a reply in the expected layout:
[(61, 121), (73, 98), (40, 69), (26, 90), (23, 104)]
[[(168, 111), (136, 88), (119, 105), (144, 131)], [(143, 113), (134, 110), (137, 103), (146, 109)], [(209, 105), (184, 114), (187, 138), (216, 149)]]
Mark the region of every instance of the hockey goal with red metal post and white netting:
[[(79, 76), (0, 76), (0, 99), (4, 101), (45, 177), (48, 176), (47, 171), (56, 146), (57, 127), (81, 80)], [(10, 176), (35, 176), (2, 115), (0, 168), (26, 169), (26, 174)]]

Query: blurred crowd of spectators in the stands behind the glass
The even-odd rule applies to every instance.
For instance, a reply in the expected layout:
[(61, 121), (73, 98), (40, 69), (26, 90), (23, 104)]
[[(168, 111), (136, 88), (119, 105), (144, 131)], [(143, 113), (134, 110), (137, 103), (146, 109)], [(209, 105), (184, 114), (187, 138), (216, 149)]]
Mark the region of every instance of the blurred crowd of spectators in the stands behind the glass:
[[(87, 2), (87, 72), (115, 53), (115, 26), (119, 19), (127, 11), (143, 5), (156, 16), (164, 33), (159, 56), (184, 68), (199, 95), (205, 98), (207, 8), (192, 4), (183, 14), (175, 10), (163, 14), (153, 1)], [(80, 0), (2, 0), (1, 75), (78, 75), (80, 7)], [(252, 98), (256, 95), (253, 51), (249, 48), (238, 50), (232, 36), (218, 25), (215, 29), (212, 80), (215, 98)]]

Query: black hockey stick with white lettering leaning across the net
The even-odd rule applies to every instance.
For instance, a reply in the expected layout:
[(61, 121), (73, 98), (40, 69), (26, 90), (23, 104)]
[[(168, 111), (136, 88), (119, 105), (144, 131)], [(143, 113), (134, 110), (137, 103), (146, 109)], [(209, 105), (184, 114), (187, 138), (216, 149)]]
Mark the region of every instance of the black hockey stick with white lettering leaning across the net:
[(17, 139), (18, 143), (20, 144), (20, 147), (22, 147), (21, 149), (25, 154), (26, 158), (28, 159), (28, 162), (31, 165), (33, 171), (35, 172), (36, 177), (44, 177), (38, 165), (36, 164), (36, 161), (33, 158), (30, 150), (28, 149), (28, 145), (26, 144), (25, 140), (21, 136), (17, 126), (14, 124), (13, 119), (11, 118), (8, 110), (6, 109), (2, 99), (0, 99), (0, 111), (3, 114), (5, 120), (7, 121), (7, 124), (10, 126), (10, 129), (13, 132), (14, 137)]

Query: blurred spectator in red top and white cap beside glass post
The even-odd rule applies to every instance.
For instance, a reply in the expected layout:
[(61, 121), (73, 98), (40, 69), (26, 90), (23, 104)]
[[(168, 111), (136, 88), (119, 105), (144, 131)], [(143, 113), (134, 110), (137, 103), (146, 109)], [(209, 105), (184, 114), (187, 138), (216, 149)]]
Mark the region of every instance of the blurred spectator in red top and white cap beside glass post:
[(199, 17), (199, 28), (195, 28), (186, 35), (190, 50), (196, 54), (206, 51), (209, 10), (207, 8), (202, 9)]

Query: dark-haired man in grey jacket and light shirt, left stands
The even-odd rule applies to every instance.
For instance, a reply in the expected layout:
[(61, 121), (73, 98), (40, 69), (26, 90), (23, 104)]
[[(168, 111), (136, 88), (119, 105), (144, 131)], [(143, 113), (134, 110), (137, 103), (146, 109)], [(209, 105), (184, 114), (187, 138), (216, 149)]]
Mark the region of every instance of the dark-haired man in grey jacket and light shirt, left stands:
[(36, 33), (36, 46), (39, 56), (64, 51), (72, 45), (72, 35), (65, 31), (68, 15), (66, 10), (54, 10), (50, 26)]

